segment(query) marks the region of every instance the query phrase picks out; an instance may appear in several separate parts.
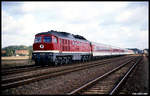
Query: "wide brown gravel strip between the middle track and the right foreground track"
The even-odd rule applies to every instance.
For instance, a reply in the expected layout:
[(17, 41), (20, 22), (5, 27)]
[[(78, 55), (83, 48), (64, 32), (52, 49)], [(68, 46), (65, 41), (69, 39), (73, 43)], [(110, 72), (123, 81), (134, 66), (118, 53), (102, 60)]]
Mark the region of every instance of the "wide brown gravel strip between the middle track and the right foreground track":
[(120, 65), (121, 62), (123, 63), (123, 60), (92, 67), (89, 69), (71, 72), (70, 74), (41, 80), (28, 85), (7, 89), (3, 92), (3, 94), (65, 94), (104, 74), (105, 72), (110, 71), (111, 69)]

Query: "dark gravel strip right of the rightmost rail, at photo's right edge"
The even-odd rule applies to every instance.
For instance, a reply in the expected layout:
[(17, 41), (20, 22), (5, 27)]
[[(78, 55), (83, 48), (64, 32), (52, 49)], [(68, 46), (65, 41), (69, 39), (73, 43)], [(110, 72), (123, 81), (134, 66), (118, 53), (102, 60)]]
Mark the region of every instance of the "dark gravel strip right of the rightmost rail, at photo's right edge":
[(143, 57), (144, 62), (138, 64), (125, 83), (120, 94), (148, 95), (149, 93), (149, 62)]

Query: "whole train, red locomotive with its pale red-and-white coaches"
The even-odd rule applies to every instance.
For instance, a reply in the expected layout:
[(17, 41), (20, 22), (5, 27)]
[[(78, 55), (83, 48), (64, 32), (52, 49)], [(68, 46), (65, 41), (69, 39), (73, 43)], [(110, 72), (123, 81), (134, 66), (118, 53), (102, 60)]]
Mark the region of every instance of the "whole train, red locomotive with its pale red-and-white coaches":
[(35, 65), (86, 62), (104, 56), (133, 54), (132, 50), (91, 42), (81, 35), (50, 30), (35, 35), (32, 60)]

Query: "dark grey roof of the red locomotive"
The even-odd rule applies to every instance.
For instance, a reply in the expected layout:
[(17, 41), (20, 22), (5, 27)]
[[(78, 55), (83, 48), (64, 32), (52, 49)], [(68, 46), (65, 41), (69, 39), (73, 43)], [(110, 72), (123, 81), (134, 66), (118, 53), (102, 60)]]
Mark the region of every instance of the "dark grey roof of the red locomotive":
[(67, 32), (58, 32), (58, 31), (53, 31), (53, 30), (48, 31), (48, 32), (41, 32), (36, 35), (46, 35), (46, 34), (52, 34), (52, 35), (63, 37), (63, 38), (80, 39), (80, 40), (87, 41), (83, 36), (80, 36), (80, 35), (74, 35), (74, 34), (70, 34)]

